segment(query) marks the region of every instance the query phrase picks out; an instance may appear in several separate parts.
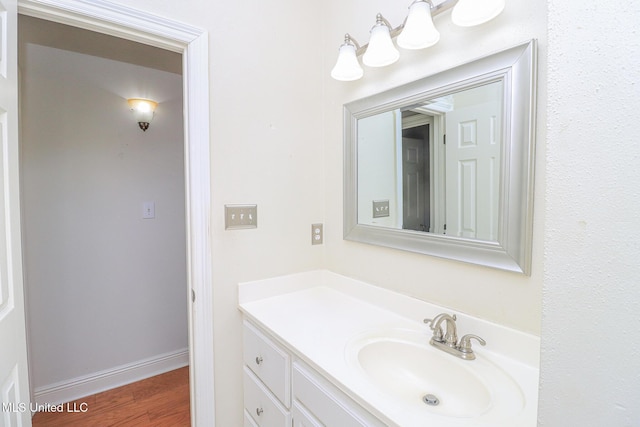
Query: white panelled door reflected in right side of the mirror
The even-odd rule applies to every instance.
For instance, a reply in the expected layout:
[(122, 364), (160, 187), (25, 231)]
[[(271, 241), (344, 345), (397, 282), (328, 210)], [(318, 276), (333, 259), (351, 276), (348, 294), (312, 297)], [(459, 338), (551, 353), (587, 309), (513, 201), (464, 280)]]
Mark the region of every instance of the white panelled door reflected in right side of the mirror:
[(446, 233), (497, 241), (500, 103), (456, 108), (446, 120)]

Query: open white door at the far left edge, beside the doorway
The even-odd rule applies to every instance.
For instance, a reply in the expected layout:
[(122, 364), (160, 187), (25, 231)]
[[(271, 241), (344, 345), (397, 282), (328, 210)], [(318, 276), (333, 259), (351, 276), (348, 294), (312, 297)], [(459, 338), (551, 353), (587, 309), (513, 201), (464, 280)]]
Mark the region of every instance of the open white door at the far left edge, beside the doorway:
[(18, 171), (16, 0), (0, 0), (0, 426), (30, 426)]

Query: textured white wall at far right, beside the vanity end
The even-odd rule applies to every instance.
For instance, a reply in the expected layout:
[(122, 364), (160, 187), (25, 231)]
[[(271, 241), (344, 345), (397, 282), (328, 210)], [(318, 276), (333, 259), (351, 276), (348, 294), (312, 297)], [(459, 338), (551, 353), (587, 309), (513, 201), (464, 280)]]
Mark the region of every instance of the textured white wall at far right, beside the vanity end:
[(540, 425), (640, 425), (640, 3), (549, 0)]

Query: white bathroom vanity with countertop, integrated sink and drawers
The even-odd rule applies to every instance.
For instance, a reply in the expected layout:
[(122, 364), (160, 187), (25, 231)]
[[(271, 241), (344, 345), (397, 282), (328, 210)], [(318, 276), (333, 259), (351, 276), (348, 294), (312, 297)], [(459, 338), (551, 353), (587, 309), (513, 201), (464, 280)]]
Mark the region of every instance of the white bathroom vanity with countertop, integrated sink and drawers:
[[(539, 339), (338, 274), (239, 285), (244, 425), (535, 426)], [(455, 314), (475, 360), (429, 344)]]

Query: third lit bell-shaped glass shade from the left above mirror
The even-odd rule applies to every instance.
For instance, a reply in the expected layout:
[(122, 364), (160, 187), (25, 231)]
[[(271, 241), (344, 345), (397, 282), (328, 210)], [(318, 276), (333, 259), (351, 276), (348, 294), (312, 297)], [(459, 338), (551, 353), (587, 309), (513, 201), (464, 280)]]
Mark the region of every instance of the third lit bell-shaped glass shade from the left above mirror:
[(398, 46), (403, 49), (424, 49), (440, 40), (440, 33), (433, 25), (431, 5), (417, 0), (409, 6), (407, 22), (398, 36)]

